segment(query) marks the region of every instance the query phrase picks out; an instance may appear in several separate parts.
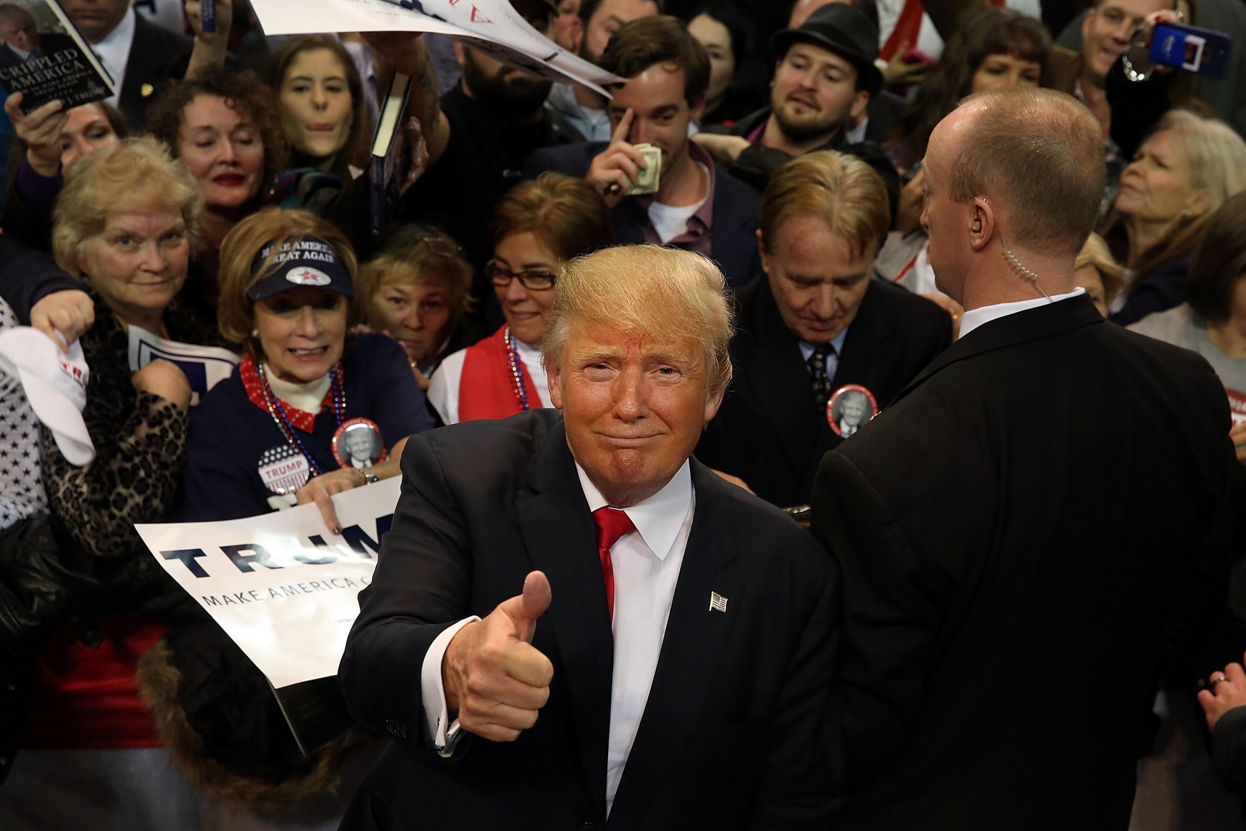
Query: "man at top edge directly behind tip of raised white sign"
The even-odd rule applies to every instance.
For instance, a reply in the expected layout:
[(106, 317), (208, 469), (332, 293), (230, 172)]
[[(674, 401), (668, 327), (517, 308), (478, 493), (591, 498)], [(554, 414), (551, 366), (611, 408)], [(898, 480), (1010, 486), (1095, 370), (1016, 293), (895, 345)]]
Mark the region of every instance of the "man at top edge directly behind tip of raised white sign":
[[(593, 64), (623, 25), (662, 14), (660, 0), (583, 0), (574, 15), (567, 16), (564, 49)], [(579, 83), (554, 83), (546, 107), (558, 112), (587, 141), (609, 141), (613, 128), (606, 112), (606, 98)]]

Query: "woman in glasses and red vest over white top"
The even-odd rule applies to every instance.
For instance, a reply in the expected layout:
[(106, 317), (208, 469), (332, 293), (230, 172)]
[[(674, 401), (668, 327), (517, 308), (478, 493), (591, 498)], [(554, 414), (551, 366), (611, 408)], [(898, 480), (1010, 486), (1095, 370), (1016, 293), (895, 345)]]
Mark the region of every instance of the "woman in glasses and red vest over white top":
[(547, 407), (541, 338), (563, 263), (611, 244), (609, 212), (583, 179), (542, 173), (503, 196), (490, 217), (493, 259), (485, 267), (506, 324), (446, 358), (429, 401), (445, 424), (505, 419)]

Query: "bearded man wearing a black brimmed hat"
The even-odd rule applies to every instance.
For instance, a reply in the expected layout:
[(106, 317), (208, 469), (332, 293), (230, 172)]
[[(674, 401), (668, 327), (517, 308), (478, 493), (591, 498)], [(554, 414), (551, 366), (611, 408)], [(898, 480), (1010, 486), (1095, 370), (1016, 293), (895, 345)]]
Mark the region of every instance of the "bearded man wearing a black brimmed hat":
[(887, 186), (895, 217), (900, 179), (882, 147), (850, 143), (849, 128), (862, 120), (871, 96), (882, 91), (878, 29), (865, 12), (832, 2), (815, 10), (797, 29), (774, 36), (770, 106), (725, 131), (703, 131), (695, 141), (734, 176), (764, 191), (770, 174), (794, 156), (834, 150), (867, 162)]

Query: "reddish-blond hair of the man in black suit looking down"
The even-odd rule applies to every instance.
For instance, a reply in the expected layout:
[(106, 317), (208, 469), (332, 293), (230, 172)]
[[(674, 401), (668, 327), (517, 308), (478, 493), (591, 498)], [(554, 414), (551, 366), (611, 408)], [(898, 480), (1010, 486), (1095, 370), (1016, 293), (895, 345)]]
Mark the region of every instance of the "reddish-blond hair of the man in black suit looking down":
[(891, 228), (882, 178), (855, 156), (822, 150), (786, 162), (761, 196), (761, 244), (773, 250), (792, 217), (817, 217), (857, 255), (877, 253)]

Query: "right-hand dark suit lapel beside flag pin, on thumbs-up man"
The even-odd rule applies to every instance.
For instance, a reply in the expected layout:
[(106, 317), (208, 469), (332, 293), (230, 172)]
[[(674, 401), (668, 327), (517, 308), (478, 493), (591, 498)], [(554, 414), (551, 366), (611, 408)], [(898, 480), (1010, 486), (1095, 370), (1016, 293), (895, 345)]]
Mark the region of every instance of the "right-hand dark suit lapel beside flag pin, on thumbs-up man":
[[(729, 527), (733, 487), (692, 460), (697, 507), (692, 533), (679, 568), (662, 653), (644, 715), (628, 754), (623, 780), (611, 810), (611, 831), (640, 829), (649, 797), (669, 776), (670, 766), (700, 721), (700, 709), (718, 678), (723, 647), (738, 614), (731, 603), (743, 601), (745, 587), (724, 571), (739, 551), (723, 537)], [(728, 612), (710, 609), (710, 592), (728, 599)]]

